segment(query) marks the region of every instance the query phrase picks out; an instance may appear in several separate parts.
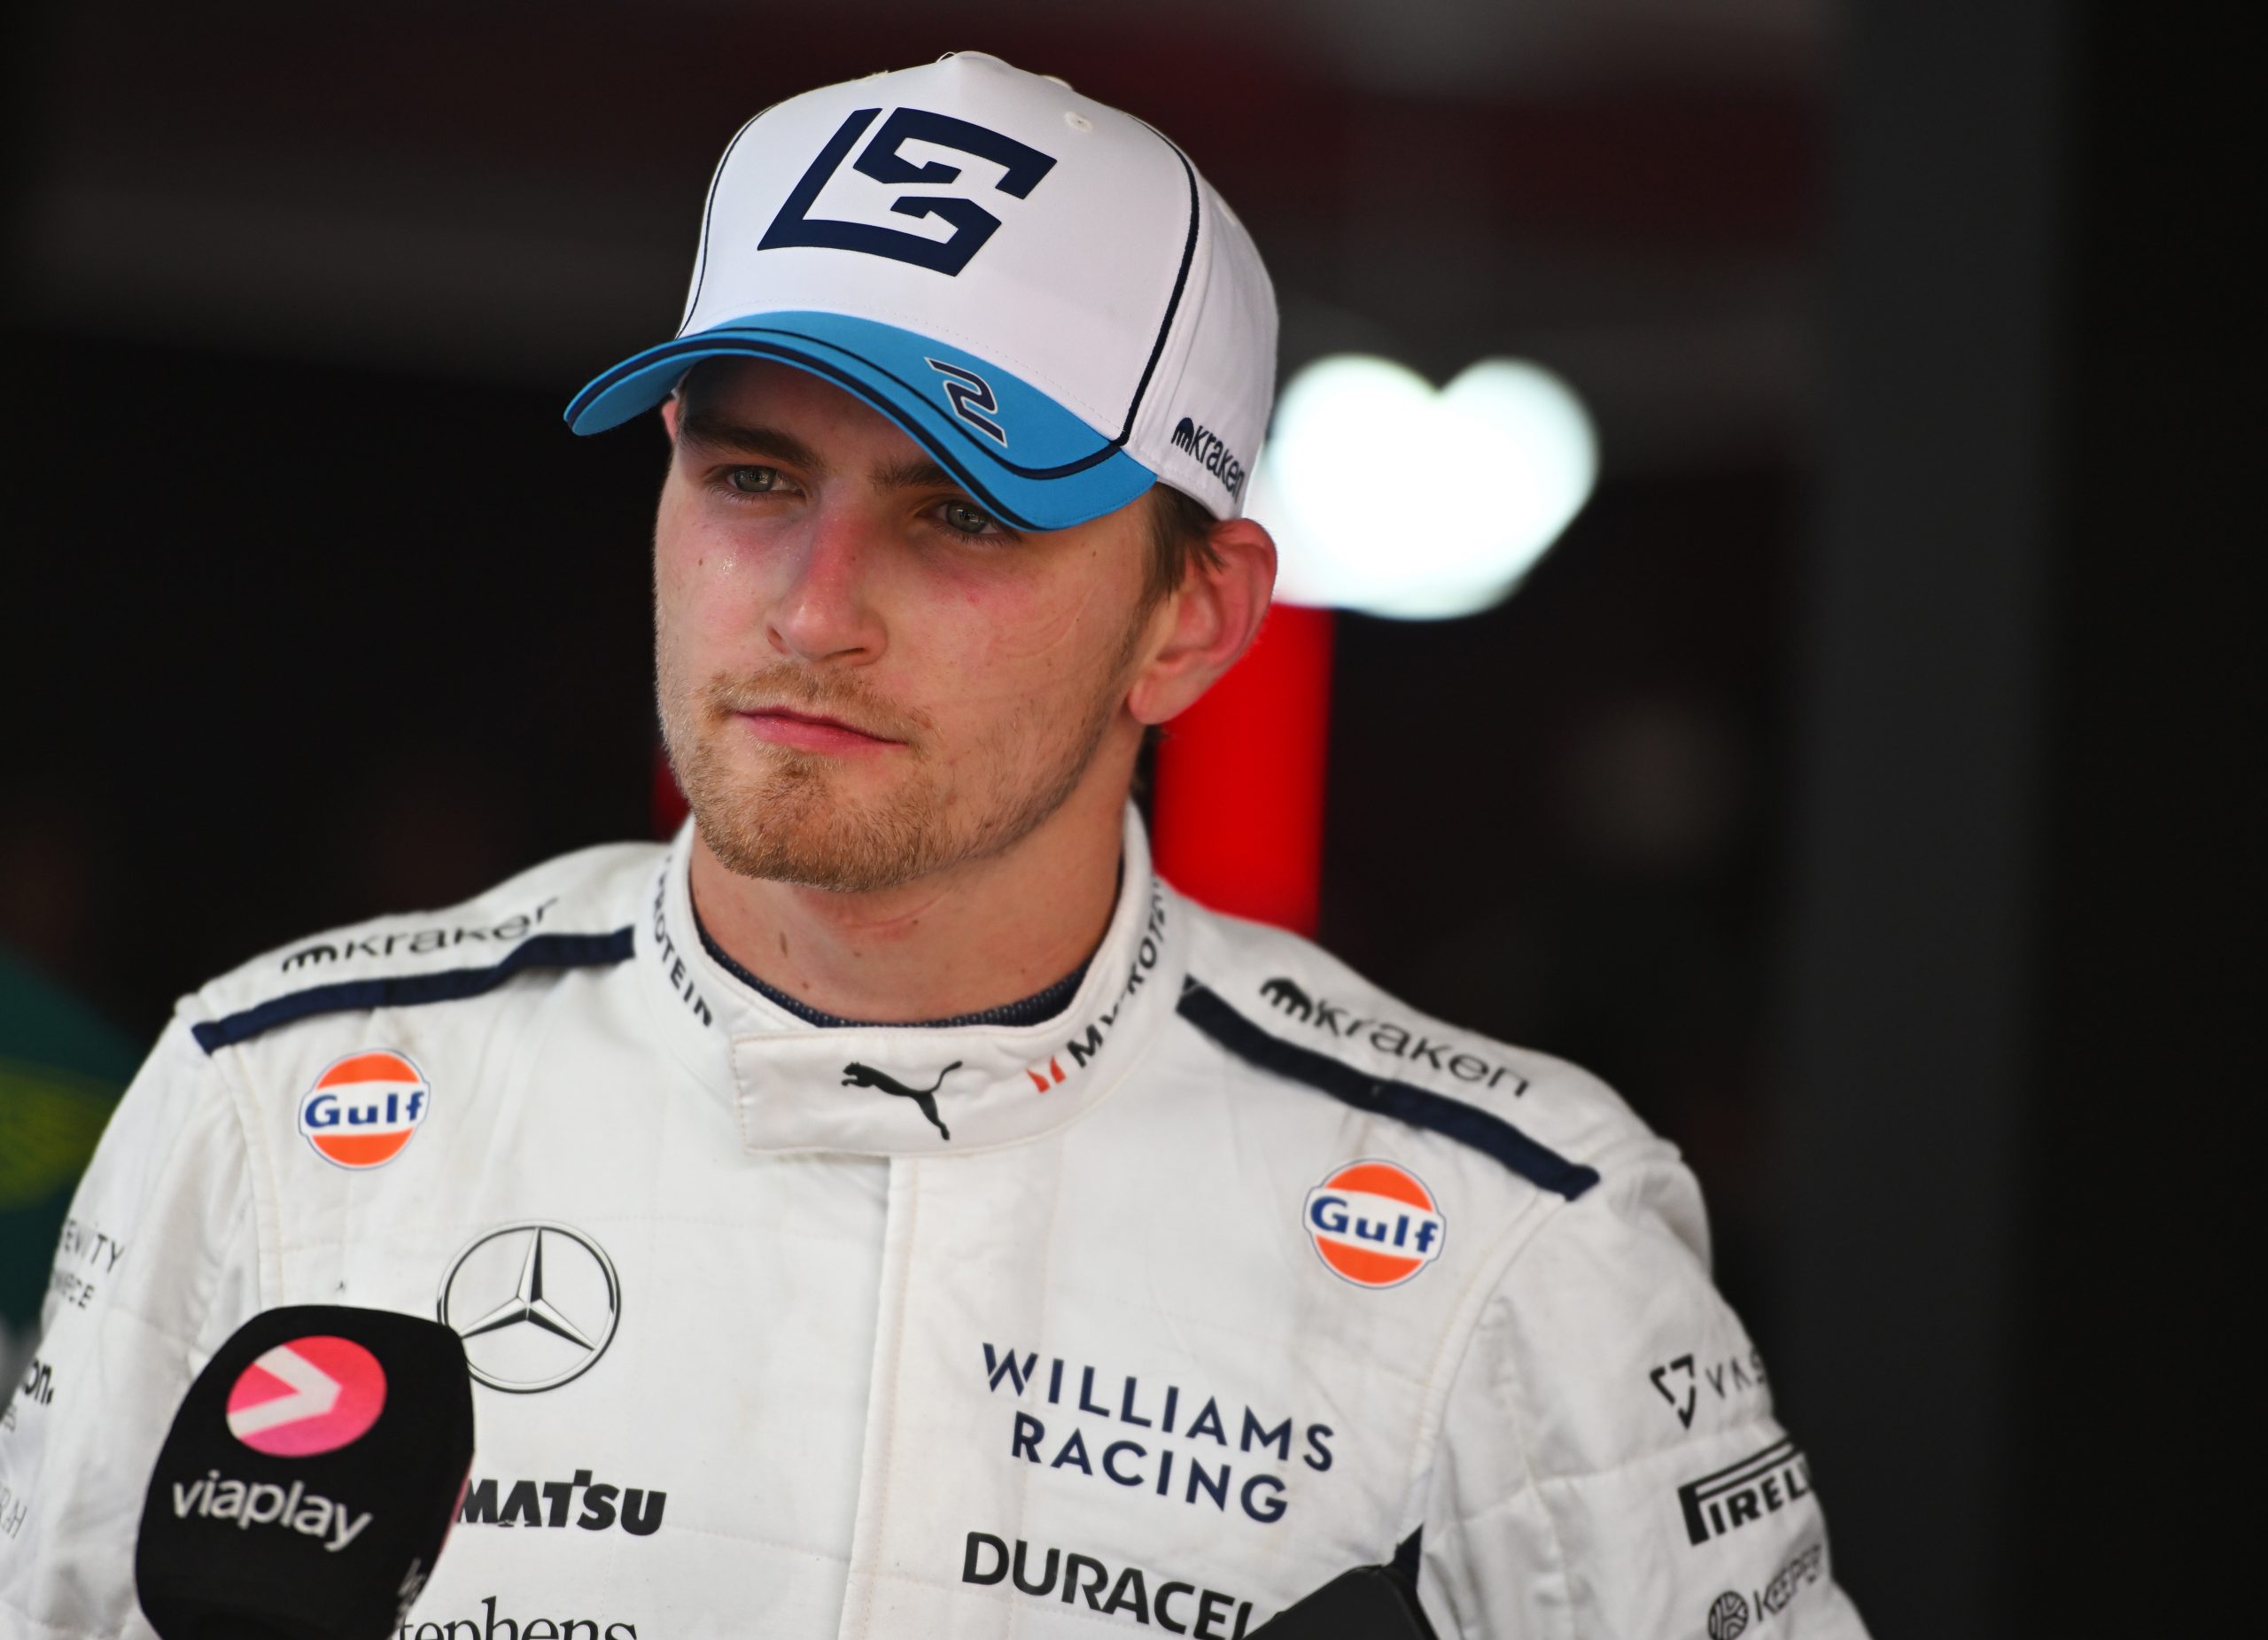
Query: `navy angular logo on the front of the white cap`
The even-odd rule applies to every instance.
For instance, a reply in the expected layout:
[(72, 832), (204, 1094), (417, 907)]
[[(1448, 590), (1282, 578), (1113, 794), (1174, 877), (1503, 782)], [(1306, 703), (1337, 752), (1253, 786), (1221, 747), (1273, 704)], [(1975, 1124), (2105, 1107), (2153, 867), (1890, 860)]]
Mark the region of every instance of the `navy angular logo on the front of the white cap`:
[[(819, 150), (819, 159), (812, 161), (812, 168), (803, 172), (803, 181), (798, 181), (796, 191), (787, 195), (787, 204), (782, 204), (780, 213), (771, 218), (771, 227), (764, 229), (764, 238), (758, 243), (758, 250), (785, 250), (789, 245), (855, 250), (864, 256), (889, 256), (891, 261), (914, 263), (916, 268), (930, 268), (941, 274), (957, 274), (968, 265), (971, 256), (984, 250), (984, 240), (1000, 229), (1000, 218), (975, 200), (950, 193), (900, 193), (889, 204), (896, 215), (934, 215), (950, 222), (953, 231), (943, 238), (907, 234), (894, 227), (873, 227), (869, 222), (837, 222), (832, 218), (812, 215), (812, 206), (819, 202), (821, 188), (826, 188), (835, 172), (841, 170), (844, 157), (857, 145), (857, 138), (866, 134), (866, 127), (873, 125), (880, 113), (880, 109), (855, 109), (850, 118), (841, 122), (835, 136), (828, 138), (828, 145)], [(1014, 136), (1002, 136), (1000, 132), (971, 125), (968, 120), (955, 120), (950, 113), (930, 113), (928, 109), (896, 109), (887, 120), (882, 120), (882, 129), (873, 134), (873, 141), (869, 141), (864, 150), (860, 150), (860, 157), (850, 163), (850, 168), (889, 186), (943, 186), (959, 181), (959, 166), (948, 166), (939, 159), (916, 166), (898, 152), (905, 143), (930, 143), (934, 147), (950, 147), (962, 154), (989, 159), (1000, 166), (1000, 181), (996, 181), (993, 188), (1014, 200), (1030, 197), (1032, 188), (1039, 186), (1039, 179), (1055, 170), (1055, 159), (1050, 154), (1041, 154), (1036, 147), (1025, 147)]]

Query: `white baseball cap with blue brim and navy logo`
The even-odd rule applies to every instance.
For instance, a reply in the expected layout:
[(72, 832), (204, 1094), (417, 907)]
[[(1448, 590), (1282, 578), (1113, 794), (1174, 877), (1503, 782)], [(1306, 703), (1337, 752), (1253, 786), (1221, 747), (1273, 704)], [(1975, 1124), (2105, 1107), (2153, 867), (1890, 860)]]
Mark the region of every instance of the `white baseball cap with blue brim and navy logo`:
[(651, 411), (701, 358), (773, 358), (873, 404), (1016, 529), (1157, 481), (1236, 517), (1275, 343), (1268, 270), (1179, 147), (955, 52), (748, 120), (676, 340), (583, 388), (567, 424)]

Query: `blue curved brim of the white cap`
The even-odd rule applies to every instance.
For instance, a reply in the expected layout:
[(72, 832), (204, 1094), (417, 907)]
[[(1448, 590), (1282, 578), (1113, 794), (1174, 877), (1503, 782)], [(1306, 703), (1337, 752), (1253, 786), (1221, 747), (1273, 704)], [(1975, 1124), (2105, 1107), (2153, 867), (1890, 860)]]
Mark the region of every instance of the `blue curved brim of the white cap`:
[(574, 395), (567, 426), (619, 426), (667, 399), (703, 358), (771, 358), (855, 392), (1012, 529), (1070, 529), (1157, 481), (1118, 440), (1007, 370), (846, 313), (758, 313), (649, 347)]

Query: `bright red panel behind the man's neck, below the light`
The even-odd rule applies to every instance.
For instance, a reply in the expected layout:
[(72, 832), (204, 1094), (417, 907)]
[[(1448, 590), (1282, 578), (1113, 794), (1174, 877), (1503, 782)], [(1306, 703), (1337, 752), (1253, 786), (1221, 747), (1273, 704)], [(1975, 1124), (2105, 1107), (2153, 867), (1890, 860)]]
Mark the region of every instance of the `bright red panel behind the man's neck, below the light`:
[(1313, 935), (1329, 728), (1331, 610), (1277, 603), (1245, 658), (1166, 726), (1159, 873), (1216, 912)]

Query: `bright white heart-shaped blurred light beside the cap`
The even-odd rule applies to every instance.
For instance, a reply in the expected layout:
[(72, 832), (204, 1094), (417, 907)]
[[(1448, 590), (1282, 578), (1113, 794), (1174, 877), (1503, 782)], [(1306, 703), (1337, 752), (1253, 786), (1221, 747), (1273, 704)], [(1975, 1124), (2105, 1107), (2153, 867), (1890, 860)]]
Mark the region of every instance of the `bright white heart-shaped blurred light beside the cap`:
[(1277, 399), (1252, 517), (1286, 603), (1399, 619), (1501, 603), (1583, 510), (1599, 440), (1540, 365), (1483, 358), (1436, 390), (1393, 358), (1318, 358)]

